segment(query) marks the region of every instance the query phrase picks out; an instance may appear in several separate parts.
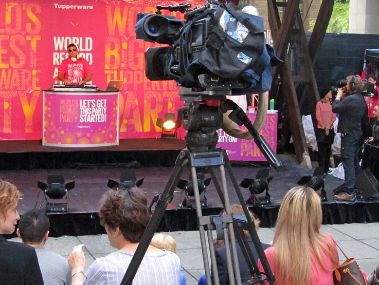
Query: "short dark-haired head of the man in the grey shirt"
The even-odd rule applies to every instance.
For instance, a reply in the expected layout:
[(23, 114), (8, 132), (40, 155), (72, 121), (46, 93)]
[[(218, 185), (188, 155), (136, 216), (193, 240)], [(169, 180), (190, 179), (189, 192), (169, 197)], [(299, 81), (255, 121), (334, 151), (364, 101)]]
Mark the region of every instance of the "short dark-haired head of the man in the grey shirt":
[(33, 209), (21, 216), (17, 236), (28, 244), (46, 242), (50, 221), (45, 211)]

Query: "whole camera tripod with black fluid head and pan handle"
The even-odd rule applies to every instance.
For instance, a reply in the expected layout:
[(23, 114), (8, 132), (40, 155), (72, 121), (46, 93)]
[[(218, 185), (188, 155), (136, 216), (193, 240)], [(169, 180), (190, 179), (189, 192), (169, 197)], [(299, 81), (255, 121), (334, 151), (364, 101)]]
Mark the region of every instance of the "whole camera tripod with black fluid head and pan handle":
[[(206, 169), (207, 171), (209, 171), (226, 212), (225, 215), (216, 215), (219, 218), (214, 216), (203, 216), (198, 185), (197, 183), (193, 183), (193, 191), (196, 203), (197, 225), (200, 232), (200, 240), (202, 244), (204, 269), (207, 284), (211, 284), (211, 274), (209, 269), (205, 231), (207, 232), (208, 237), (209, 253), (212, 262), (211, 264), (214, 284), (218, 285), (220, 283), (216, 267), (215, 251), (213, 246), (212, 230), (214, 229), (218, 233), (218, 238), (224, 238), (229, 282), (231, 285), (234, 285), (236, 283), (238, 285), (241, 284), (239, 260), (236, 250), (236, 240), (233, 231), (233, 220), (232, 215), (230, 213), (230, 203), (226, 183), (225, 167), (228, 170), (230, 180), (232, 181), (234, 190), (236, 191), (236, 194), (244, 210), (251, 239), (254, 243), (259, 259), (262, 262), (264, 274), (266, 275), (266, 277), (262, 277), (261, 272), (258, 270), (258, 267), (256, 265), (257, 263), (254, 260), (254, 257), (252, 257), (250, 251), (250, 254), (246, 254), (249, 257), (248, 260), (246, 260), (246, 262), (254, 260), (254, 268), (251, 270), (252, 279), (247, 281), (246, 284), (263, 284), (264, 281), (268, 281), (270, 284), (274, 284), (275, 277), (267, 262), (266, 256), (262, 249), (262, 245), (259, 241), (258, 234), (255, 230), (254, 221), (252, 221), (250, 217), (246, 203), (238, 186), (236, 177), (234, 177), (226, 151), (225, 149), (215, 147), (218, 142), (218, 135), (216, 130), (218, 130), (222, 124), (222, 108), (224, 108), (224, 111), (226, 111), (225, 109), (232, 109), (233, 115), (236, 115), (234, 111), (237, 112), (236, 117), (242, 123), (244, 123), (244, 125), (250, 131), (258, 147), (273, 167), (282, 166), (281, 162), (277, 159), (276, 155), (268, 146), (267, 142), (264, 141), (264, 139), (254, 128), (254, 126), (252, 126), (245, 112), (231, 100), (225, 99), (225, 90), (222, 90), (222, 93), (220, 92), (219, 96), (217, 96), (218, 94), (216, 94), (216, 91), (214, 90), (210, 90), (208, 91), (208, 93), (207, 90), (203, 91), (202, 93), (198, 93), (191, 92), (190, 90), (186, 89), (187, 88), (183, 88), (181, 90), (182, 94), (181, 91), (179, 91), (179, 94), (181, 94), (181, 99), (186, 101), (183, 110), (181, 110), (181, 115), (183, 118), (183, 126), (185, 127), (185, 129), (187, 129), (185, 138), (187, 148), (183, 149), (176, 159), (175, 166), (172, 170), (172, 174), (169, 178), (169, 181), (163, 193), (159, 196), (159, 199), (155, 207), (155, 211), (147, 225), (145, 233), (143, 234), (139, 242), (138, 248), (135, 254), (133, 255), (128, 270), (121, 281), (121, 285), (131, 285), (133, 283), (134, 276), (143, 259), (143, 256), (145, 256), (145, 253), (150, 245), (150, 241), (154, 236), (154, 233), (157, 230), (157, 226), (165, 213), (167, 204), (169, 203), (170, 199), (172, 199), (174, 189), (181, 175), (183, 174), (184, 167), (187, 165), (191, 169), (192, 181), (194, 182), (197, 182), (197, 172), (199, 169)], [(183, 94), (183, 91), (187, 91), (188, 93)], [(210, 100), (212, 102), (207, 100)], [(217, 100), (220, 101), (220, 105), (218, 107), (210, 105)], [(200, 102), (202, 102), (202, 104), (200, 104)], [(221, 187), (214, 173), (215, 168), (219, 168), (220, 170), (222, 182)], [(220, 224), (223, 224), (223, 226), (220, 227)], [(230, 241), (227, 238), (227, 229), (230, 234)], [(243, 246), (241, 246), (241, 249), (242, 248)]]

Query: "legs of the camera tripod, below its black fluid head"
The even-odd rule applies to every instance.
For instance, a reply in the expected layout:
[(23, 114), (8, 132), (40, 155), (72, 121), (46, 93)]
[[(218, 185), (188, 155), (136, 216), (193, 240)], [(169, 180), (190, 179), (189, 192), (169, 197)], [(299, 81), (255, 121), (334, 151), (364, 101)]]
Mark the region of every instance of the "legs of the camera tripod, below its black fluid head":
[[(225, 175), (225, 167), (226, 167), (230, 176), (230, 180), (233, 184), (234, 190), (236, 191), (240, 204), (242, 205), (243, 211), (245, 213), (247, 227), (248, 227), (251, 239), (254, 242), (255, 249), (258, 253), (258, 257), (262, 262), (264, 274), (267, 276), (267, 277), (261, 276), (261, 272), (256, 267), (257, 263), (254, 260), (254, 257), (252, 257), (251, 252), (246, 253), (244, 254), (244, 256), (248, 256), (248, 260), (249, 260), (247, 261), (248, 264), (253, 264), (252, 268), (249, 266), (250, 272), (254, 274), (252, 276), (253, 279), (247, 281), (246, 284), (259, 284), (259, 283), (263, 284), (264, 281), (267, 280), (271, 285), (273, 285), (275, 281), (274, 274), (272, 273), (269, 267), (267, 258), (264, 254), (262, 245), (259, 241), (257, 231), (255, 229), (254, 221), (252, 221), (250, 217), (250, 213), (246, 206), (246, 202), (242, 196), (236, 177), (234, 176), (233, 171), (231, 169), (230, 161), (226, 154), (226, 150), (222, 148), (214, 148), (207, 151), (195, 151), (195, 152), (188, 148), (185, 148), (184, 150), (181, 151), (181, 153), (179, 154), (179, 156), (177, 157), (175, 161), (174, 169), (172, 170), (172, 174), (164, 189), (164, 192), (160, 195), (157, 201), (155, 211), (147, 225), (145, 233), (143, 234), (139, 242), (138, 248), (135, 254), (133, 255), (133, 258), (131, 260), (131, 263), (129, 264), (128, 270), (121, 281), (121, 285), (131, 285), (133, 283), (133, 279), (135, 277), (135, 274), (137, 273), (137, 270), (143, 259), (143, 256), (145, 256), (145, 253), (150, 245), (151, 239), (153, 238), (154, 233), (157, 230), (159, 222), (161, 221), (165, 213), (167, 204), (174, 193), (176, 185), (180, 177), (182, 176), (186, 165), (189, 165), (191, 168), (192, 181), (194, 182), (193, 187), (194, 187), (194, 196), (195, 196), (195, 203), (196, 203), (197, 224), (198, 224), (198, 228), (200, 232), (200, 240), (202, 244), (204, 269), (205, 269), (205, 274), (207, 278), (207, 284), (211, 284), (211, 275), (210, 275), (209, 260), (208, 260), (208, 254), (207, 254), (205, 231), (207, 231), (207, 236), (208, 236), (209, 253), (210, 253), (211, 262), (212, 262), (214, 283), (218, 285), (220, 284), (220, 282), (218, 279), (218, 271), (217, 271), (217, 266), (216, 266), (215, 251), (214, 251), (214, 246), (213, 246), (213, 236), (212, 236), (212, 232), (210, 228), (211, 227), (210, 224), (212, 224), (211, 221), (213, 221), (214, 219), (211, 218), (210, 216), (202, 215), (200, 194), (198, 193), (196, 168), (200, 168), (200, 169), (206, 168), (210, 170), (212, 181), (215, 185), (216, 191), (218, 192), (220, 199), (222, 201), (222, 204), (224, 206), (226, 215), (224, 215), (225, 218), (223, 217), (223, 222), (226, 223), (226, 227), (222, 228), (222, 232), (223, 232), (224, 241), (225, 241), (229, 282), (231, 285), (234, 285), (236, 283), (237, 285), (241, 285), (241, 276), (240, 276), (237, 249), (236, 249), (236, 240), (234, 237), (233, 222), (230, 219), (231, 213), (230, 213), (230, 204), (229, 204), (229, 194), (227, 192), (227, 183), (226, 183), (226, 175)], [(213, 168), (216, 168), (216, 167), (219, 167), (220, 169), (222, 187), (220, 187), (218, 178), (215, 176), (215, 173), (213, 170)], [(229, 248), (229, 240), (227, 238), (228, 234), (227, 234), (226, 228), (228, 228), (229, 230), (230, 248)], [(220, 227), (219, 227), (219, 233), (220, 233)], [(240, 246), (242, 250), (246, 248), (246, 245), (244, 246), (243, 244), (240, 244)], [(252, 260), (254, 260), (254, 262)]]

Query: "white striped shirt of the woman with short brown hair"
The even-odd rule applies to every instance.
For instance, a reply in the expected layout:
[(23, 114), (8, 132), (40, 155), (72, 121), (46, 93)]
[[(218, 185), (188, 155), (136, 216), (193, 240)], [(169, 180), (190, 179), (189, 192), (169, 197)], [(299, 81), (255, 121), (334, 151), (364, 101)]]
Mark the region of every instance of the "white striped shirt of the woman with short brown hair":
[[(133, 254), (117, 251), (96, 258), (84, 277), (88, 285), (119, 285), (127, 272)], [(181, 261), (179, 257), (164, 251), (159, 255), (145, 255), (133, 280), (133, 285), (179, 285)]]

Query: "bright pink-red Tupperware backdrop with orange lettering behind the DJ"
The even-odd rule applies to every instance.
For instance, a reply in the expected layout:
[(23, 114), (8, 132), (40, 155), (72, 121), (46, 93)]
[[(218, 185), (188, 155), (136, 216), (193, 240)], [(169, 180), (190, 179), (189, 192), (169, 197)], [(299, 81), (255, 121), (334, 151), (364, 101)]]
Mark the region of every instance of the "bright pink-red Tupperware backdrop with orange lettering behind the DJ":
[[(173, 81), (149, 81), (144, 53), (159, 46), (135, 39), (136, 13), (179, 1), (14, 0), (0, 2), (0, 140), (42, 138), (42, 90), (56, 79), (70, 43), (93, 67), (92, 84), (123, 80), (120, 138), (154, 138), (158, 117), (182, 106)], [(75, 5), (73, 5), (75, 4)], [(204, 5), (192, 1), (192, 7)], [(184, 17), (180, 12), (164, 14)]]

